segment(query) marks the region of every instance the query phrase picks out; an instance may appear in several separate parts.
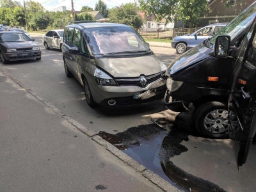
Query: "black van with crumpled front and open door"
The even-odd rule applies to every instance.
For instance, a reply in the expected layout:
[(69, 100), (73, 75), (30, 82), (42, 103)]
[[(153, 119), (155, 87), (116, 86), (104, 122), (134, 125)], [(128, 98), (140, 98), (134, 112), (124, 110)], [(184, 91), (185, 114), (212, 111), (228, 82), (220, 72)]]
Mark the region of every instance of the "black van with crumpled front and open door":
[(166, 70), (165, 106), (177, 112), (194, 106), (196, 130), (207, 138), (230, 136), (239, 166), (256, 131), (255, 18), (256, 1)]

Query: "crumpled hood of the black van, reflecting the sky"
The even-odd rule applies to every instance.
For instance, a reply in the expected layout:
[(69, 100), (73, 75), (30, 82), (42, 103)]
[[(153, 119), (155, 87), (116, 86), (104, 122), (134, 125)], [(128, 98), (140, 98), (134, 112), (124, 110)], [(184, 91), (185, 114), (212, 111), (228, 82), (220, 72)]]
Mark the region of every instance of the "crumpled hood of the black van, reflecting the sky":
[(212, 53), (212, 49), (199, 44), (172, 61), (166, 70), (166, 75), (171, 76), (172, 74), (175, 74), (184, 68), (194, 65), (199, 61), (205, 60), (206, 58), (209, 58)]

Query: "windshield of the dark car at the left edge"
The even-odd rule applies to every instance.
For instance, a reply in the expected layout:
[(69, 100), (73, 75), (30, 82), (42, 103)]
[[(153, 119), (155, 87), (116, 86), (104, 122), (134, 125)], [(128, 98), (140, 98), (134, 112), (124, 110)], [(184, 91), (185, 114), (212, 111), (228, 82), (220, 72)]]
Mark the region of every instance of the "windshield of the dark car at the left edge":
[(0, 33), (0, 42), (25, 42), (31, 39), (24, 33)]

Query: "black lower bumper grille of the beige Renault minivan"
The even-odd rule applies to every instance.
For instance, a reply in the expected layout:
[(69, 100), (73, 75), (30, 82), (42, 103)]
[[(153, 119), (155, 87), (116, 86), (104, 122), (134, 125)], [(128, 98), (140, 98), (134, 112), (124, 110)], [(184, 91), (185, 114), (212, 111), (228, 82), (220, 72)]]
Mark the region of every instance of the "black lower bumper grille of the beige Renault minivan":
[[(154, 97), (150, 97), (145, 100), (133, 99), (132, 96), (131, 97), (116, 97), (116, 98), (109, 98), (109, 99), (102, 100), (102, 102), (100, 102), (100, 105), (109, 106), (108, 100), (110, 100), (110, 99), (114, 99), (116, 101), (116, 104), (115, 104), (116, 107), (147, 104), (148, 102), (153, 102), (156, 100), (163, 99), (165, 92), (166, 92), (166, 86), (164, 85), (164, 86), (161, 86), (156, 89), (156, 95)], [(115, 107), (115, 106), (113, 106), (113, 107)]]

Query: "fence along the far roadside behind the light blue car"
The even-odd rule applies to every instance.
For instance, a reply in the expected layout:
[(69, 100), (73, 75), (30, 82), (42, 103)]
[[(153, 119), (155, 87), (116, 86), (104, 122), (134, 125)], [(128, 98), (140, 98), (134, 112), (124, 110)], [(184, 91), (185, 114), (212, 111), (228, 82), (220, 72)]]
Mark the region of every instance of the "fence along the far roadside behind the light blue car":
[(181, 36), (186, 34), (191, 34), (200, 28), (173, 28), (168, 30), (158, 30), (158, 31), (139, 31), (140, 35), (144, 38), (168, 38), (172, 39), (175, 36)]

